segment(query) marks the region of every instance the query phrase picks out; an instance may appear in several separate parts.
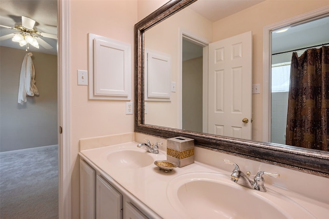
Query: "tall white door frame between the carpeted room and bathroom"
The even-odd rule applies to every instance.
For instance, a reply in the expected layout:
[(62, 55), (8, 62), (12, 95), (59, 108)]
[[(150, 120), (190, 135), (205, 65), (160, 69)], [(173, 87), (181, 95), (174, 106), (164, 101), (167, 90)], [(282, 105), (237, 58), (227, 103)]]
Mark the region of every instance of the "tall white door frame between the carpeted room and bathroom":
[(58, 0), (57, 99), (58, 127), (58, 196), (59, 218), (71, 218), (71, 149), (70, 149), (70, 47), (69, 0)]

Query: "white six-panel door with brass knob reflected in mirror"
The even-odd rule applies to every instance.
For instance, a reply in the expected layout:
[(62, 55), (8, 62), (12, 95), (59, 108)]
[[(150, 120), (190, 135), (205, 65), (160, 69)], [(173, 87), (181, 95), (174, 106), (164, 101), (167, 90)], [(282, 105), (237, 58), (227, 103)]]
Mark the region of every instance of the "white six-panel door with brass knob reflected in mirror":
[(251, 31), (209, 44), (208, 82), (208, 132), (250, 140)]

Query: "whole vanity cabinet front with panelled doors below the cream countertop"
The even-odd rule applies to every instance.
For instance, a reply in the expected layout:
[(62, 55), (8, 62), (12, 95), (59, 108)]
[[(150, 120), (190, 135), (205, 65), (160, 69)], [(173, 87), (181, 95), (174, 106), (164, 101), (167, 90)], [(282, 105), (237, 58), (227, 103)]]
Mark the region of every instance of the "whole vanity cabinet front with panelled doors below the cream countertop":
[(126, 191), (112, 185), (101, 173), (80, 159), (81, 219), (152, 218), (138, 209)]

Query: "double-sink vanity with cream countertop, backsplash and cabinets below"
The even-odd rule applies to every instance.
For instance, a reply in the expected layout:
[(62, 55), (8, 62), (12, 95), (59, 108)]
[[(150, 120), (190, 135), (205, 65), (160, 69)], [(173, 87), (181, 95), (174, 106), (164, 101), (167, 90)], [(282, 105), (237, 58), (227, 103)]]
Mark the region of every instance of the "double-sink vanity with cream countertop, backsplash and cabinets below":
[[(144, 137), (138, 135), (132, 133), (133, 141), (120, 139), (108, 146), (99, 138), (80, 141), (81, 218), (105, 215), (106, 218), (327, 218), (329, 215), (329, 190), (325, 187), (328, 178), (199, 147), (195, 148), (194, 164), (165, 172), (154, 162), (167, 160), (166, 144), (159, 147), (158, 154), (150, 153), (137, 147)], [(155, 141), (158, 140), (151, 143)], [(232, 182), (234, 165), (225, 163), (225, 158), (239, 165), (241, 173), (278, 172), (280, 177), (263, 175), (266, 192), (243, 187)]]

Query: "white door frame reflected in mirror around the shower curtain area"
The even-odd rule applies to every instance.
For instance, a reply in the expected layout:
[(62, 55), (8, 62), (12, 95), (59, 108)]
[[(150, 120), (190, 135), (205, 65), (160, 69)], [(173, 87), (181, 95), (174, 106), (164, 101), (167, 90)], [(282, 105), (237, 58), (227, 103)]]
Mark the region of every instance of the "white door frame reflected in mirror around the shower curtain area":
[(329, 6), (319, 8), (295, 17), (285, 19), (265, 26), (263, 28), (263, 140), (262, 142), (270, 142), (271, 138), (271, 56), (272, 56), (272, 38), (271, 32), (308, 21), (313, 21), (329, 14)]

